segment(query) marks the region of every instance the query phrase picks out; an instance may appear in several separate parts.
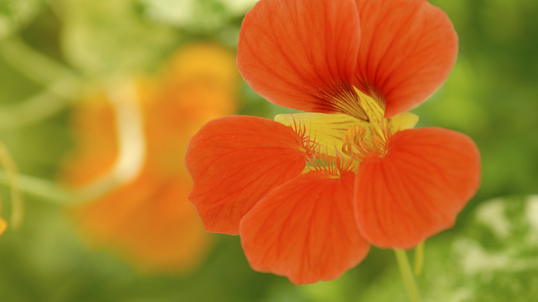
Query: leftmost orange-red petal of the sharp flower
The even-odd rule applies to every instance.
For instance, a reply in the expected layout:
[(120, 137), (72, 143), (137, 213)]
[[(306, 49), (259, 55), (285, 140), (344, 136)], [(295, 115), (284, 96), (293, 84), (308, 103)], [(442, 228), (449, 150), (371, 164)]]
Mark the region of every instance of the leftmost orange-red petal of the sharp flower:
[(206, 230), (237, 234), (255, 203), (301, 174), (305, 154), (292, 128), (269, 119), (232, 116), (203, 126), (185, 162), (195, 183), (189, 199)]

